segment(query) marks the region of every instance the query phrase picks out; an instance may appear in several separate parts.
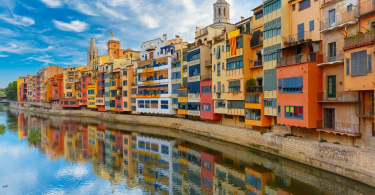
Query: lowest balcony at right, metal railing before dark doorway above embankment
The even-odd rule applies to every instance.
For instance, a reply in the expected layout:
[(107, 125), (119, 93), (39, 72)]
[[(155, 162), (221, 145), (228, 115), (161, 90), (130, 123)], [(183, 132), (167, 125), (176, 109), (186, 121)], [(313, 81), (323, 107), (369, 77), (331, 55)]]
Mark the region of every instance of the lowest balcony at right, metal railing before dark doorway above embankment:
[(339, 134), (346, 134), (349, 136), (359, 136), (359, 124), (328, 122), (323, 120), (316, 121), (316, 131), (325, 131)]

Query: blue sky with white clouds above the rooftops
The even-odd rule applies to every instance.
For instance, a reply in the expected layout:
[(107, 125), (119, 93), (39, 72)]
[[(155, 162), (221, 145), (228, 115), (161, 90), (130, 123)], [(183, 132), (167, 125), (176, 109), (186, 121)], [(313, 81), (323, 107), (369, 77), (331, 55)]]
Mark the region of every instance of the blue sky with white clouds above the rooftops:
[[(1, 0), (0, 88), (18, 76), (56, 64), (85, 65), (95, 38), (106, 54), (110, 30), (121, 48), (139, 50), (143, 41), (174, 38), (192, 42), (195, 26), (212, 23), (216, 0)], [(230, 22), (249, 17), (262, 0), (227, 0)]]

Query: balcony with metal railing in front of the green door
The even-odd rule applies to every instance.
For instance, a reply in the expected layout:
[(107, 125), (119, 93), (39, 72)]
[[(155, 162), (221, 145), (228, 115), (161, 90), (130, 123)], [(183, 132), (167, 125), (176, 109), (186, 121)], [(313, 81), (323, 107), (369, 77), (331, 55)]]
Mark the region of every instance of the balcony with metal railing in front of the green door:
[(334, 94), (327, 92), (317, 93), (318, 102), (356, 103), (359, 101), (358, 91), (339, 91)]

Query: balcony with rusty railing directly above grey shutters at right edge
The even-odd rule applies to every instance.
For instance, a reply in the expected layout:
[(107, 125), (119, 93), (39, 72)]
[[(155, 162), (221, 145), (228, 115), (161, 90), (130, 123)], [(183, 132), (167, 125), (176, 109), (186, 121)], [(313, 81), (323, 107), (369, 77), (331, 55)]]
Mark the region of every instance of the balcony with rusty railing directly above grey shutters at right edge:
[(359, 32), (356, 35), (348, 36), (344, 39), (343, 50), (355, 48), (363, 45), (373, 44), (375, 40), (375, 30), (370, 29), (367, 32)]

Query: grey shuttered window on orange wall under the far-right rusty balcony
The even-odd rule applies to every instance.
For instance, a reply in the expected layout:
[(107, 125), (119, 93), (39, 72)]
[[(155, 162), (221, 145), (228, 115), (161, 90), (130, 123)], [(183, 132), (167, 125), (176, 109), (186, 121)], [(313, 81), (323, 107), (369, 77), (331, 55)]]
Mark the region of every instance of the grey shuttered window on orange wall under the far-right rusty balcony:
[(361, 76), (367, 74), (366, 50), (352, 52), (350, 54), (351, 76)]

